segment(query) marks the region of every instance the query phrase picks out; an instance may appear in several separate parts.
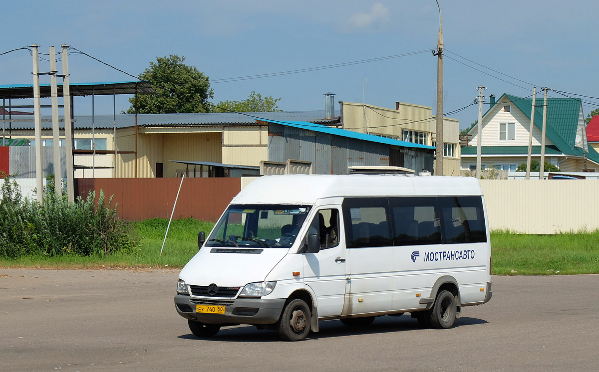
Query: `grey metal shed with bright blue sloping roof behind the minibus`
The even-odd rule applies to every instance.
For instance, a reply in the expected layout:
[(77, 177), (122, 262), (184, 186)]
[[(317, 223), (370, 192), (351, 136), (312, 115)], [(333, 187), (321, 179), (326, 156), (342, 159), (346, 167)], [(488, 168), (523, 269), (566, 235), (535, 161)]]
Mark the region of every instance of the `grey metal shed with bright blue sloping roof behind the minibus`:
[(305, 121), (265, 121), (268, 161), (311, 161), (313, 173), (347, 174), (349, 166), (433, 171), (435, 148)]

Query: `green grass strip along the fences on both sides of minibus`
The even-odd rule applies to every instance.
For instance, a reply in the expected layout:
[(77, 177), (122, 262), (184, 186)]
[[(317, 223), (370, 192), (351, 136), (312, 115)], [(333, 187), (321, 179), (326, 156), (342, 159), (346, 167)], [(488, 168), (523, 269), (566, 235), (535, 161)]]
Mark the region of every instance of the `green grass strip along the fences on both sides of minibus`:
[[(164, 268), (183, 267), (198, 251), (198, 231), (208, 233), (212, 222), (176, 219), (171, 223), (162, 256), (167, 219), (133, 222), (140, 243), (125, 252), (79, 257), (24, 257), (0, 259), (0, 267), (47, 269)], [(494, 275), (565, 275), (599, 273), (599, 231), (556, 235), (491, 233)]]

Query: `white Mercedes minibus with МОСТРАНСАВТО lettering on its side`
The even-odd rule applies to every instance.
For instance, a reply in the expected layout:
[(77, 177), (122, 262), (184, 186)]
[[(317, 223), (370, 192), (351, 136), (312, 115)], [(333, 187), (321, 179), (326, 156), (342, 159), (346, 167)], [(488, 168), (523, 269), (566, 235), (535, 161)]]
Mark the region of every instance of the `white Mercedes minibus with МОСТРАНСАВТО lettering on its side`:
[(476, 178), (277, 175), (235, 196), (179, 275), (195, 336), (225, 325), (297, 341), (318, 322), (410, 313), (450, 328), (491, 299), (491, 245)]

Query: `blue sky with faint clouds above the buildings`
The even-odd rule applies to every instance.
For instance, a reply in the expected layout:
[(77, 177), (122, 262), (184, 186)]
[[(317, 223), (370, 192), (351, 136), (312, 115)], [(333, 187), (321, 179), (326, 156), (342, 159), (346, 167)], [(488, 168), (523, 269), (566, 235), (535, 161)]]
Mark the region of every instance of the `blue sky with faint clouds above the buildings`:
[[(546, 86), (599, 97), (593, 26), (599, 2), (439, 2), (446, 48), (444, 112), (470, 104), (479, 84), (487, 87), (485, 96), (524, 97), (532, 94), (533, 86)], [(136, 76), (157, 56), (178, 54), (210, 80), (432, 50), (439, 23), (434, 0), (4, 1), (2, 13), (0, 53), (33, 43), (48, 53), (49, 45), (59, 49), (66, 43)], [(0, 56), (0, 66), (0, 84), (32, 83), (28, 51)], [(42, 62), (40, 70), (48, 69)], [(83, 55), (69, 57), (69, 70), (71, 83), (132, 80)], [(279, 108), (285, 111), (324, 109), (324, 93), (335, 93), (335, 102), (362, 102), (364, 85), (367, 103), (388, 108), (396, 101), (416, 103), (431, 106), (434, 113), (436, 74), (436, 57), (426, 52), (301, 74), (215, 82), (212, 102), (241, 100), (255, 91), (282, 98)], [(49, 83), (49, 78), (41, 82)], [(556, 92), (549, 96), (563, 97)], [(117, 97), (117, 112), (129, 107), (126, 98)], [(583, 100), (588, 102), (583, 105), (585, 115), (599, 107), (599, 98)], [(16, 104), (31, 103), (32, 99)], [(95, 104), (96, 114), (112, 114), (111, 96), (96, 97)], [(89, 97), (76, 98), (75, 115), (90, 113)], [(477, 115), (476, 106), (470, 106), (450, 117), (465, 127)]]

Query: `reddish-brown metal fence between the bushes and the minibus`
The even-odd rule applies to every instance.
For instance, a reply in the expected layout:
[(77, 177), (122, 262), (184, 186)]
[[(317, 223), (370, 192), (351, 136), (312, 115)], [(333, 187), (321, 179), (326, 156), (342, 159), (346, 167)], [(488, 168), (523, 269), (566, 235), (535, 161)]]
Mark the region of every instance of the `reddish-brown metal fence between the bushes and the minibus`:
[[(77, 179), (77, 194), (87, 197), (90, 190), (104, 190), (106, 200), (119, 203), (120, 218), (140, 221), (169, 218), (181, 182), (180, 178), (96, 178)], [(241, 190), (240, 178), (184, 178), (173, 218), (193, 217), (216, 221), (231, 199)]]

